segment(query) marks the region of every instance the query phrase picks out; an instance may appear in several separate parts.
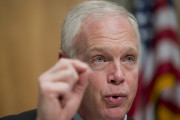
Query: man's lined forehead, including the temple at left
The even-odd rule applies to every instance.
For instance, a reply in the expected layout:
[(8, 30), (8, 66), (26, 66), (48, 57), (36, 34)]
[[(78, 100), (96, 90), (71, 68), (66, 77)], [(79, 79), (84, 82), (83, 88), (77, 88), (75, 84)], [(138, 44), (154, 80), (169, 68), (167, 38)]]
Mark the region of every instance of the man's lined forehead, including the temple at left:
[[(123, 36), (122, 36), (123, 35)], [(99, 38), (119, 39), (121, 37), (133, 38), (136, 42), (133, 28), (124, 16), (105, 15), (98, 19), (93, 17), (86, 19), (81, 26), (79, 34), (76, 36), (76, 52), (83, 53), (93, 42)], [(125, 39), (126, 40), (126, 39)], [(107, 41), (109, 42), (109, 41)]]

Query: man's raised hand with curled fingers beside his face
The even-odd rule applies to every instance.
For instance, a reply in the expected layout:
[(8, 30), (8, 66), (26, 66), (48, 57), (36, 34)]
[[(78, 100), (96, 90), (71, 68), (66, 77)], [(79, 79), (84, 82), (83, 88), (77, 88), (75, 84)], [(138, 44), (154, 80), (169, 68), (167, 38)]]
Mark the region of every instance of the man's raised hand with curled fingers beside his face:
[(42, 74), (37, 120), (71, 120), (88, 85), (90, 71), (79, 60), (62, 58)]

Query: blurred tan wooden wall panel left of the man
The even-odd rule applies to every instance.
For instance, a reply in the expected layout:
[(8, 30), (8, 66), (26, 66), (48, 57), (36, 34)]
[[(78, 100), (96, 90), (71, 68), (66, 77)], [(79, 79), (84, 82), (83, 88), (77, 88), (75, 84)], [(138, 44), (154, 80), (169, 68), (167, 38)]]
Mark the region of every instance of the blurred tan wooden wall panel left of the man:
[(0, 0), (0, 117), (37, 106), (38, 76), (58, 59), (62, 20), (83, 0)]

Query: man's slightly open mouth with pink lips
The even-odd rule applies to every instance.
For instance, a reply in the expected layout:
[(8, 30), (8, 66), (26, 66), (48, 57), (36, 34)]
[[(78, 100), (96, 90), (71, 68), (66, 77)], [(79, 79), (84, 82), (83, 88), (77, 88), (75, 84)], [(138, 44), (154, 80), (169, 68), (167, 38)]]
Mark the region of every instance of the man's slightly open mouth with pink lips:
[(105, 95), (104, 100), (105, 102), (110, 105), (110, 106), (120, 106), (124, 99), (126, 98), (125, 94), (110, 94), (110, 95)]

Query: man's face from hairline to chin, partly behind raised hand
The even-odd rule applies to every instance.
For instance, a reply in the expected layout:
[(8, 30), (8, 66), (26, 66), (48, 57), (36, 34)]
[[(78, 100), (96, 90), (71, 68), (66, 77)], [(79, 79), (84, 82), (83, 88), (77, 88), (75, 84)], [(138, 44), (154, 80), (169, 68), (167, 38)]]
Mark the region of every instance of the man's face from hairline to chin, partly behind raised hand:
[(138, 82), (138, 48), (130, 23), (113, 16), (87, 20), (80, 36), (77, 41), (85, 41), (85, 50), (78, 58), (92, 69), (80, 115), (93, 120), (123, 119)]

